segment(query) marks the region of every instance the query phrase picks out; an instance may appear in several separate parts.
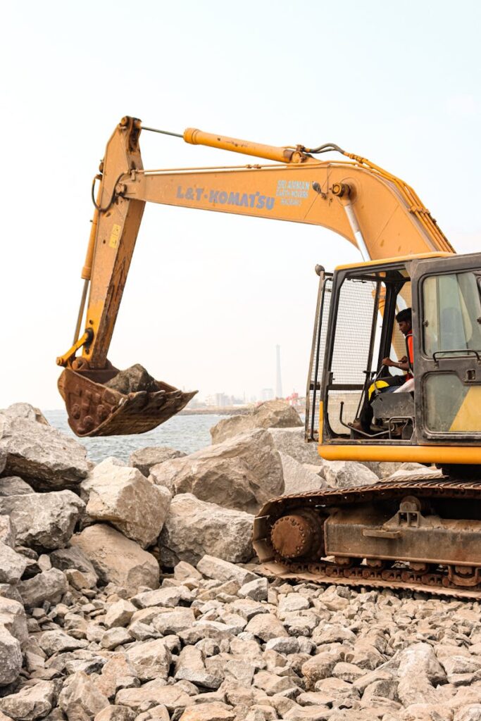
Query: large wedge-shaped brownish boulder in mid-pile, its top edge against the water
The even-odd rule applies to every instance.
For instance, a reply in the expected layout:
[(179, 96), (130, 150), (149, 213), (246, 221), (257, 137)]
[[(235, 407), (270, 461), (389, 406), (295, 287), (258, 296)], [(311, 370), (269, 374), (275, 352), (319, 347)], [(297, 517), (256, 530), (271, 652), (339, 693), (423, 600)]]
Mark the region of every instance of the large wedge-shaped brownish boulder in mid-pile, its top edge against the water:
[(284, 490), (281, 458), (262, 429), (165, 461), (151, 469), (151, 479), (174, 494), (193, 493), (247, 513)]

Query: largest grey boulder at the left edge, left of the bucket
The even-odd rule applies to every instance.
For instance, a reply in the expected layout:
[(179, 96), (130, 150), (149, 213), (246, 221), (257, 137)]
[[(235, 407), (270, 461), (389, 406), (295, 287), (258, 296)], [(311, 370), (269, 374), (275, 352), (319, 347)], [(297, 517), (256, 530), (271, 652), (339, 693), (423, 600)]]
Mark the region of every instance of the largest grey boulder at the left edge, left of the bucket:
[(89, 470), (87, 450), (50, 425), (0, 414), (0, 449), (6, 451), (4, 475), (18, 475), (35, 490), (78, 485)]

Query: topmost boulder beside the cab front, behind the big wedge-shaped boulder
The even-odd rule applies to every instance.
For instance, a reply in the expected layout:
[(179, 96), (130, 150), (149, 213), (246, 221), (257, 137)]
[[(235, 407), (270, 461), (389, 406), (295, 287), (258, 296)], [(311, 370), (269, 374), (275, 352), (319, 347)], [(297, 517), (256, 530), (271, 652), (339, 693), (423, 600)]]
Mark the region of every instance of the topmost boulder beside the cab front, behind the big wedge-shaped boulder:
[(224, 443), (234, 435), (255, 428), (296, 428), (301, 425), (304, 424), (299, 413), (286, 401), (266, 401), (245, 415), (232, 415), (220, 420), (211, 428), (212, 443)]

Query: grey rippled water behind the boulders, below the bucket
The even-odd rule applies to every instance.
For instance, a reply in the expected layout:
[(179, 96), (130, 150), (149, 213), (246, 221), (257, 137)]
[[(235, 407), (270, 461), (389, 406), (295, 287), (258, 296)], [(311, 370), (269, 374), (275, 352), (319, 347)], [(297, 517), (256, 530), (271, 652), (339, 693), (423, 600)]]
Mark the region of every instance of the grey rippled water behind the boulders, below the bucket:
[[(54, 428), (76, 438), (67, 423), (66, 411), (47, 410), (43, 414)], [(209, 429), (219, 423), (223, 417), (221, 415), (175, 415), (154, 430), (149, 430), (148, 433), (110, 435), (104, 438), (76, 438), (76, 440), (87, 448), (87, 455), (94, 463), (100, 463), (107, 456), (115, 456), (122, 461), (128, 461), (128, 456), (132, 451), (146, 446), (170, 446), (188, 454), (211, 445)]]

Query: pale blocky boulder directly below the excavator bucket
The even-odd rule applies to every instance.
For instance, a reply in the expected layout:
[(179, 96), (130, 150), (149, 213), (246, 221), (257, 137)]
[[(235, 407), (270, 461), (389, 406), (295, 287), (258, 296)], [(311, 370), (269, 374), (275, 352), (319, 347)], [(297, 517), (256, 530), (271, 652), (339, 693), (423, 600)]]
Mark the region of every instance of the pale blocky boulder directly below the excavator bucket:
[(96, 521), (108, 521), (142, 548), (155, 543), (169, 510), (171, 495), (136, 468), (107, 458), (81, 483), (88, 495), (87, 513)]

